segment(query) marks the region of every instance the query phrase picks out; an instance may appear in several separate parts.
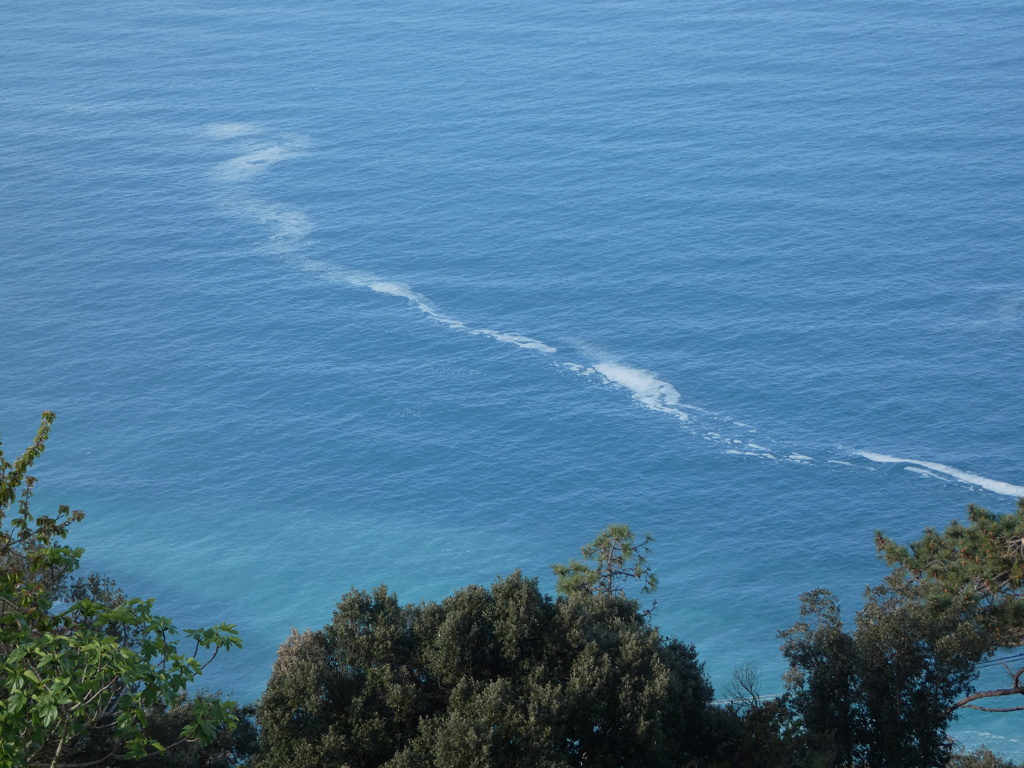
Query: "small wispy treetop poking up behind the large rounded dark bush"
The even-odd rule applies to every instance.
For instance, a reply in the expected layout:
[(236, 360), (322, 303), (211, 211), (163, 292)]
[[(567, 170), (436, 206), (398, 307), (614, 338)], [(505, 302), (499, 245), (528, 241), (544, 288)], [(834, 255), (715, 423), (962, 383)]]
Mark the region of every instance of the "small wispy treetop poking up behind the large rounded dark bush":
[(636, 581), (643, 594), (657, 589), (657, 577), (647, 565), (654, 538), (647, 534), (639, 543), (629, 525), (609, 525), (581, 549), (583, 561), (554, 564), (555, 589), (560, 595), (618, 595), (626, 597), (627, 584)]

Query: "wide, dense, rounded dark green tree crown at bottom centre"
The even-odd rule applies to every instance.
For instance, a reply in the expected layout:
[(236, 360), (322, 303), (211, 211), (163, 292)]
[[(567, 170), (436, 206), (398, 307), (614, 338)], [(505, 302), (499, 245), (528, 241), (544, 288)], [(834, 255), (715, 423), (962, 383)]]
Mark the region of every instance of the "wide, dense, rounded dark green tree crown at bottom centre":
[(258, 764), (679, 765), (711, 694), (693, 648), (622, 597), (553, 601), (518, 572), (440, 603), (380, 587), (282, 646)]

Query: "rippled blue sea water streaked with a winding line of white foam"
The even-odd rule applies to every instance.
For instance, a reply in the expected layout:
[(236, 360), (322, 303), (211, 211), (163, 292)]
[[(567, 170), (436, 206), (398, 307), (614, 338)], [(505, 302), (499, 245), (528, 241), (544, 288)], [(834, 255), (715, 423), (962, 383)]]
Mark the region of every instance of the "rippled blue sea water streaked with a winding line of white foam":
[[(609, 522), (716, 687), (1024, 495), (1024, 5), (0, 9), (0, 430), (87, 565), (246, 639)], [(1019, 716), (955, 735), (1024, 756)]]

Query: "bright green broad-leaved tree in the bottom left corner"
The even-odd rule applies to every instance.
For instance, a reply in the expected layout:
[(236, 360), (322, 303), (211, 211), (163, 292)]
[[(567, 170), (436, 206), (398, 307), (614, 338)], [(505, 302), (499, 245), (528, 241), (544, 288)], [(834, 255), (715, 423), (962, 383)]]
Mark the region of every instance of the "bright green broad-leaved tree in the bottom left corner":
[[(178, 706), (219, 650), (241, 645), (234, 628), (185, 630), (185, 650), (153, 600), (125, 598), (101, 581), (67, 586), (83, 550), (63, 541), (84, 515), (30, 509), (30, 471), (54, 418), (43, 414), (35, 441), (13, 461), (0, 449), (0, 765), (99, 765), (211, 742), (232, 724), (232, 702), (191, 699), (168, 743), (150, 735), (147, 719)], [(90, 743), (104, 744), (101, 754), (75, 763)]]

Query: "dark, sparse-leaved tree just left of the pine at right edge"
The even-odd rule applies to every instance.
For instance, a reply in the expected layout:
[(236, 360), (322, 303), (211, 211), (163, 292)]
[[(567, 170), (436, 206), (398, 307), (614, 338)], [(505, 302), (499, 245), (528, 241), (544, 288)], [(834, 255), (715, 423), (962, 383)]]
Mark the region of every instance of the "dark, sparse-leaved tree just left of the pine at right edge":
[(936, 610), (899, 571), (867, 590), (853, 632), (830, 593), (802, 600), (802, 620), (780, 633), (790, 702), (807, 731), (830, 744), (833, 764), (944, 765), (953, 705), (984, 653), (963, 606)]

